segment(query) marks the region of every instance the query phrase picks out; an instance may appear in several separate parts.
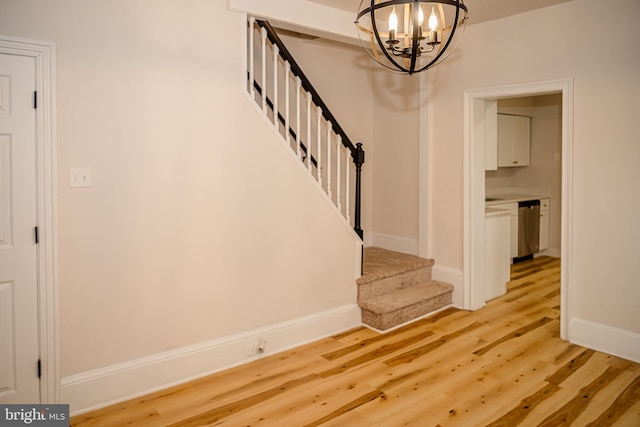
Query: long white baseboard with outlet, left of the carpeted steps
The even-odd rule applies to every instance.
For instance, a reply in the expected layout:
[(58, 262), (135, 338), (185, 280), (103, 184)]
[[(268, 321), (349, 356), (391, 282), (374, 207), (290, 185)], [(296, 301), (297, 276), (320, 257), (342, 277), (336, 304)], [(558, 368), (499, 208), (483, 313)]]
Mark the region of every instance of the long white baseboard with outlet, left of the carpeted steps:
[[(171, 350), (62, 379), (71, 415), (88, 412), (252, 362), (362, 324), (353, 305)], [(257, 351), (260, 340), (264, 353)]]

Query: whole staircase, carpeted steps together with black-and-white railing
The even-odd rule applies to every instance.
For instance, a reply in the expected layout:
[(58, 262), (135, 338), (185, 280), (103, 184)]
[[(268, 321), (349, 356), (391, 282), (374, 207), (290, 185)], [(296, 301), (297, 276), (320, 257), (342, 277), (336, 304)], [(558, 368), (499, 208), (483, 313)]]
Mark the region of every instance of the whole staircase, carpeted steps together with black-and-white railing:
[[(268, 22), (249, 17), (247, 48), (250, 100), (362, 240), (362, 144), (351, 142)], [(357, 280), (363, 322), (387, 330), (450, 305), (453, 286), (432, 280), (432, 265), (432, 260), (365, 249)]]

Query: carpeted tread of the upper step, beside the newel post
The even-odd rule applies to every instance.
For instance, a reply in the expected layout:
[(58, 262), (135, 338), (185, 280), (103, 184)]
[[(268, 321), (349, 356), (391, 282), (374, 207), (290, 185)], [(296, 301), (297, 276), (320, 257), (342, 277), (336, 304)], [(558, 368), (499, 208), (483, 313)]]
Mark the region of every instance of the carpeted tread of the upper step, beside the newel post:
[(364, 251), (363, 274), (356, 282), (359, 285), (396, 276), (407, 271), (431, 267), (434, 261), (414, 255), (369, 247)]

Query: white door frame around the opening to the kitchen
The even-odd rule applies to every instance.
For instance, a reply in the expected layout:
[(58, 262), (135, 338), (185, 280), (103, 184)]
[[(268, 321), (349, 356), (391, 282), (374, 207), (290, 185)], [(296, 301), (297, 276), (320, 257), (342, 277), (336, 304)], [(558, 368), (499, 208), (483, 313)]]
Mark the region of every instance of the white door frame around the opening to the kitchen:
[(552, 80), (464, 93), (464, 284), (465, 309), (480, 308), (484, 259), (485, 166), (484, 116), (478, 103), (500, 98), (562, 94), (562, 219), (560, 274), (560, 337), (569, 339), (573, 295), (573, 79)]

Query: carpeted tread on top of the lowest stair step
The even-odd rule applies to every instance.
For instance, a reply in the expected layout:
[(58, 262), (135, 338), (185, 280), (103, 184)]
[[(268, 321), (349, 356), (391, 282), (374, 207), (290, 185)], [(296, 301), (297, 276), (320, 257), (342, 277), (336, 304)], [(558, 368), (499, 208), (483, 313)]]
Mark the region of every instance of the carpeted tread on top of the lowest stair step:
[(438, 298), (453, 291), (453, 286), (432, 280), (427, 283), (413, 284), (394, 292), (377, 295), (359, 302), (363, 310), (375, 314), (391, 313), (412, 305)]

